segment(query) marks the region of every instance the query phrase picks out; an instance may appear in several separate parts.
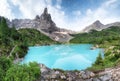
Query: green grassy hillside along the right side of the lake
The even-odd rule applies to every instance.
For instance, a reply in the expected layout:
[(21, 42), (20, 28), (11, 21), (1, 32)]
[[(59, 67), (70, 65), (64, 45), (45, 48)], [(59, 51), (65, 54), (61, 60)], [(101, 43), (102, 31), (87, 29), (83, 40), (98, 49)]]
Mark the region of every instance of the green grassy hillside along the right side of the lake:
[(109, 27), (102, 31), (91, 30), (89, 33), (75, 34), (73, 37), (70, 43), (90, 43), (104, 48), (102, 63), (95, 62), (96, 64), (89, 69), (97, 70), (120, 64), (120, 27)]

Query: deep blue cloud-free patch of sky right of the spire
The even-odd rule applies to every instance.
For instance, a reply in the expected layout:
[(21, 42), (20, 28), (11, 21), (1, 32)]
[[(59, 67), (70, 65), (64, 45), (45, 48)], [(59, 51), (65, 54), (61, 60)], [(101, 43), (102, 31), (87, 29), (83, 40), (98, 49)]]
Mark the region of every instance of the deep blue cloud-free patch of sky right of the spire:
[(63, 0), (61, 5), (65, 12), (69, 14), (70, 11), (75, 10), (80, 10), (84, 13), (88, 8), (96, 9), (101, 3), (102, 0)]

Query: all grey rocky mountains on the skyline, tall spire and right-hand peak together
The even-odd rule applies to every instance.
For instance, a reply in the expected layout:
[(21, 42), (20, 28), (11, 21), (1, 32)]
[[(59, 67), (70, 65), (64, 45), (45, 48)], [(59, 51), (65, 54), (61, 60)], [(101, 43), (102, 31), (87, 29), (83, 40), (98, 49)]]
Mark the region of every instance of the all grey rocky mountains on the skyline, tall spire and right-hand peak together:
[[(14, 26), (16, 29), (34, 28), (39, 30), (41, 33), (49, 36), (51, 39), (59, 42), (68, 42), (73, 38), (71, 34), (77, 33), (72, 30), (57, 27), (52, 20), (51, 15), (48, 13), (47, 8), (44, 9), (44, 12), (41, 16), (37, 15), (34, 19), (13, 19), (10, 21), (6, 18), (6, 20), (9, 27)], [(97, 20), (93, 24), (85, 27), (82, 32), (89, 32), (91, 30), (101, 31), (102, 29), (106, 29), (111, 26), (120, 26), (120, 22), (104, 25), (99, 20)]]

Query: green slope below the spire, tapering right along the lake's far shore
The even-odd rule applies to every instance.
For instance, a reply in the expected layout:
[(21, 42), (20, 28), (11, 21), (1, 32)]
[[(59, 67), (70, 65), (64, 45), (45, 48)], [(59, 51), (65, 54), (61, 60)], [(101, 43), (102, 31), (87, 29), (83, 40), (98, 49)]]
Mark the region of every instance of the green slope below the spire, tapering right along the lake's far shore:
[(22, 36), (23, 40), (26, 40), (28, 45), (50, 45), (55, 44), (57, 42), (51, 40), (49, 37), (45, 36), (44, 34), (40, 33), (40, 31), (36, 29), (20, 29), (19, 33)]

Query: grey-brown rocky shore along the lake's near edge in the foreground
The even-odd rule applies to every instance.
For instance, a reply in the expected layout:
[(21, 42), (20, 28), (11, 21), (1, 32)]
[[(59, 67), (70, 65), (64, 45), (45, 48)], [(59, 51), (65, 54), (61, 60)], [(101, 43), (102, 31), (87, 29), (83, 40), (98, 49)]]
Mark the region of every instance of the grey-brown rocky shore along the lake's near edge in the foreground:
[(41, 76), (38, 81), (120, 81), (120, 67), (107, 68), (104, 71), (94, 73), (84, 71), (64, 71), (50, 69), (40, 64)]

